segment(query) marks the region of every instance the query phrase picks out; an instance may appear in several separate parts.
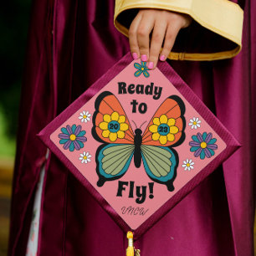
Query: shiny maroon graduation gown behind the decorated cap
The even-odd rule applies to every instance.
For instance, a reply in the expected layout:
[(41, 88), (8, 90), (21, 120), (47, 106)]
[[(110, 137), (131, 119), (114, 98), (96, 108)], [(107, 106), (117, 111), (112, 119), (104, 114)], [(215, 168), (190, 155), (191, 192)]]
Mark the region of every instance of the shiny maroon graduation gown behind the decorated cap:
[[(241, 4), (237, 57), (171, 64), (243, 146), (136, 241), (142, 255), (253, 255), (256, 3)], [(125, 254), (125, 234), (36, 136), (129, 50), (113, 17), (114, 1), (33, 1), (8, 255), (25, 255), (44, 163), (38, 255)]]

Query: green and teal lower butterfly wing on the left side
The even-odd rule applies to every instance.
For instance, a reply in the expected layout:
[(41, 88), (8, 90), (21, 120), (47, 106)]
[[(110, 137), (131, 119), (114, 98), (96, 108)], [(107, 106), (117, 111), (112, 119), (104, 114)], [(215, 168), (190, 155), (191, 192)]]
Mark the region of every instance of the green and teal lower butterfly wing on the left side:
[(125, 174), (131, 164), (134, 148), (132, 144), (104, 144), (98, 148), (96, 152), (98, 187)]

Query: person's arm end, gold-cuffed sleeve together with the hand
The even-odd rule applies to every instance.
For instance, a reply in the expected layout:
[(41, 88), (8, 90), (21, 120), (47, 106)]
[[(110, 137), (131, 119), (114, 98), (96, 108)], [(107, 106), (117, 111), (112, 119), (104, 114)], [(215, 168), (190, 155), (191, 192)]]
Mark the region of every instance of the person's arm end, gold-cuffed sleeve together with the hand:
[[(169, 59), (227, 59), (241, 49), (243, 10), (228, 0), (116, 0), (115, 27), (129, 36), (133, 53), (147, 55), (155, 65), (174, 42)], [(151, 45), (146, 47), (150, 34), (153, 54)]]

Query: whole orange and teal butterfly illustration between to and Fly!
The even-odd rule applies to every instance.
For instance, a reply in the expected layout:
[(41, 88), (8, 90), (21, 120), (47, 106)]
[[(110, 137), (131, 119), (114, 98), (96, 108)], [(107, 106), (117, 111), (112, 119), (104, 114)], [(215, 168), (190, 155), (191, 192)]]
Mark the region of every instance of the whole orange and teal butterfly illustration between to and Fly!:
[(96, 151), (98, 187), (119, 179), (128, 170), (132, 158), (137, 168), (141, 162), (152, 181), (173, 191), (178, 156), (172, 147), (185, 140), (185, 105), (177, 95), (168, 97), (156, 110), (145, 131), (132, 130), (119, 100), (105, 91), (95, 100), (92, 135), (102, 143)]

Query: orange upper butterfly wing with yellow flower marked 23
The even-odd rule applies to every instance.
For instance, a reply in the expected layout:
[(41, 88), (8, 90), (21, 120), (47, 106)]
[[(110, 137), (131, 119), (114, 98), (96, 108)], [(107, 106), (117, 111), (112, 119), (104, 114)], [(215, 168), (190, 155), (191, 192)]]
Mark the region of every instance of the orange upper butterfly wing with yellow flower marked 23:
[[(184, 112), (185, 105), (180, 97), (177, 95), (168, 97), (159, 106), (147, 125), (142, 136), (142, 144), (151, 146), (180, 145), (185, 138)], [(161, 132), (161, 129), (166, 129), (166, 132)]]

